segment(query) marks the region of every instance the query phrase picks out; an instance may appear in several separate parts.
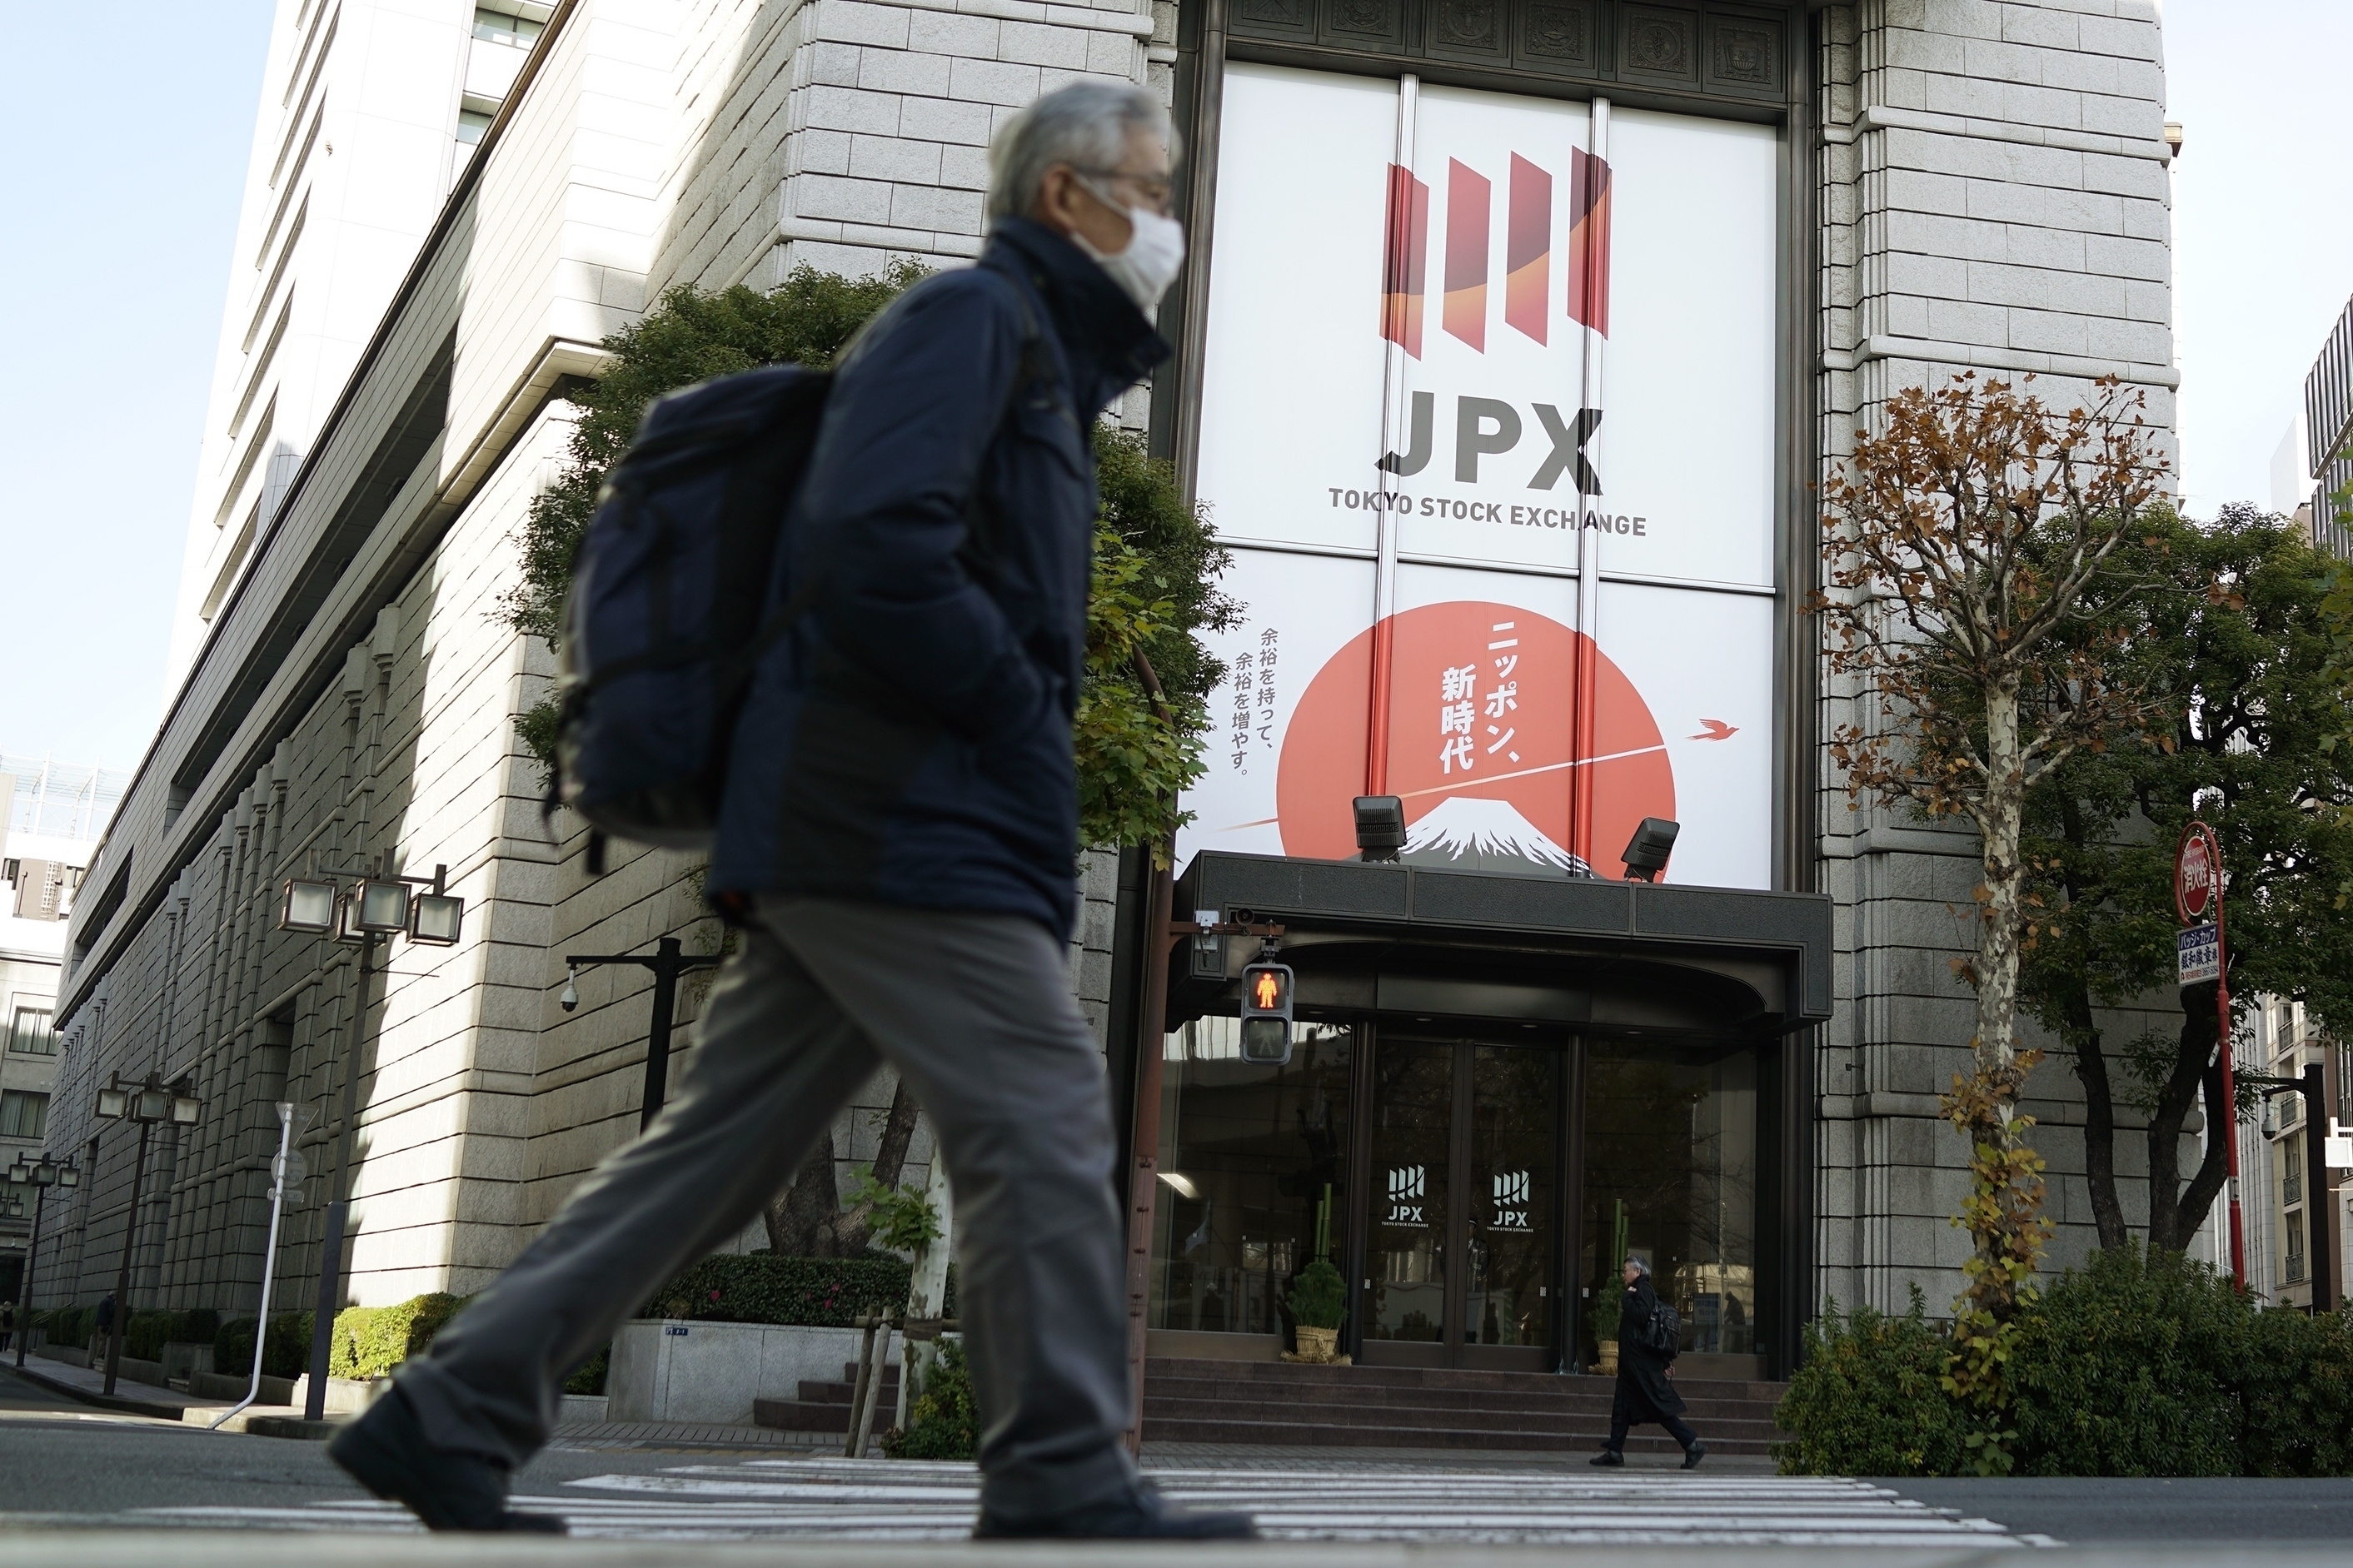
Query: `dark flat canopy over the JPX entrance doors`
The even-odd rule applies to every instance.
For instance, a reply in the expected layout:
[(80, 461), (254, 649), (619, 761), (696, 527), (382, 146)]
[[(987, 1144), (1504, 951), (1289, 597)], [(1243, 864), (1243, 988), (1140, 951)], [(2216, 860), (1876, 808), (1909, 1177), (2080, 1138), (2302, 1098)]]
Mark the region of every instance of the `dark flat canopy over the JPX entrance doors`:
[[(1301, 1016), (1412, 1013), (1633, 1039), (1769, 1039), (1831, 1018), (1831, 898), (1200, 851), (1176, 917), (1275, 922)], [(1188, 940), (1174, 1030), (1240, 1001), (1259, 938)]]

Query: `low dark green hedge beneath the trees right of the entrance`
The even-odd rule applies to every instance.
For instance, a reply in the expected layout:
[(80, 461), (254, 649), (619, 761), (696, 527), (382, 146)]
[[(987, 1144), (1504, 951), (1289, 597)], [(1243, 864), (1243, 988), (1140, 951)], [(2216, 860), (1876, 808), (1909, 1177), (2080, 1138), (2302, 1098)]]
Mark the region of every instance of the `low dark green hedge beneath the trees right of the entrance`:
[[(1784, 1474), (1962, 1474), (1972, 1420), (1944, 1394), (1951, 1342), (1920, 1316), (1835, 1305), (1774, 1418)], [(2353, 1474), (2353, 1307), (2257, 1307), (2181, 1253), (2122, 1246), (2019, 1314), (2005, 1425), (2028, 1476)]]

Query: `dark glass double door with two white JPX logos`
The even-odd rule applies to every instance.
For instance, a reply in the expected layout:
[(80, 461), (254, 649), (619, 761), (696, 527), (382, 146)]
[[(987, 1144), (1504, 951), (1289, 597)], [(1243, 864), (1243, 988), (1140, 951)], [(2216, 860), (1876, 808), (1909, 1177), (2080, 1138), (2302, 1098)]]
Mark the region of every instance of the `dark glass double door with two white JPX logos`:
[(1548, 1368), (1558, 1178), (1558, 1048), (1384, 1037), (1365, 1359)]

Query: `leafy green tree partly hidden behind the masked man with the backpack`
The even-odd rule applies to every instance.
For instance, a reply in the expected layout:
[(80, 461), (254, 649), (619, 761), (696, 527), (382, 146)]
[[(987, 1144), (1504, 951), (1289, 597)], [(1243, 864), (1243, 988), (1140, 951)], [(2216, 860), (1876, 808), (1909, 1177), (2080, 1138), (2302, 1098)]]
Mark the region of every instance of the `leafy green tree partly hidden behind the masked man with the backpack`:
[[(605, 339), (612, 360), (572, 395), (581, 418), (569, 465), (532, 503), (518, 538), (522, 578), (501, 597), (506, 623), (548, 642), (560, 635), (598, 489), (654, 397), (758, 364), (833, 364), (856, 329), (922, 275), (915, 263), (866, 280), (795, 268), (772, 294), (680, 287)], [(1240, 607), (1217, 588), (1228, 557), (1207, 517), (1184, 503), (1172, 468), (1136, 437), (1101, 425), (1094, 451), (1101, 515), (1075, 738), (1080, 844), (1151, 844), (1165, 853), (1186, 820), (1176, 797), (1202, 773), (1209, 691), (1226, 675), (1198, 635), (1233, 625)], [(1167, 717), (1144, 668), (1162, 686)], [(548, 698), (518, 719), (541, 766), (553, 766), (555, 717)]]

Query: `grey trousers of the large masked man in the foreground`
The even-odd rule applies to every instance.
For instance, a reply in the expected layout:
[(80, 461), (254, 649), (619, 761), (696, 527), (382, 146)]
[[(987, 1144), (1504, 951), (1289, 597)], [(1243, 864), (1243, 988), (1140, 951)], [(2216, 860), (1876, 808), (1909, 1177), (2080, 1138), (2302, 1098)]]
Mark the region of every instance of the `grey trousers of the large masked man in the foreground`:
[(426, 1436), (529, 1460), (565, 1375), (739, 1234), (887, 1060), (955, 1178), (984, 1509), (1049, 1519), (1132, 1488), (1111, 1095), (1064, 950), (1014, 914), (826, 898), (762, 898), (741, 940), (654, 1124), (400, 1368)]

